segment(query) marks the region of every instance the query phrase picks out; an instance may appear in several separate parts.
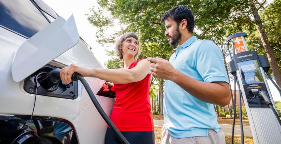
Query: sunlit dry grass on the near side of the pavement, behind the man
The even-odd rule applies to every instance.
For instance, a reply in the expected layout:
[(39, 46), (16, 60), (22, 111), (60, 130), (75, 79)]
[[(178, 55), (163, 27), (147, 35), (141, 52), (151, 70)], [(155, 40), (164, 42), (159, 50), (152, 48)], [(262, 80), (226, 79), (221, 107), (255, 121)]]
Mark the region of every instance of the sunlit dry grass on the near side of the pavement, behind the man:
[[(154, 127), (154, 133), (155, 133), (155, 144), (161, 144), (161, 133), (162, 127)], [(231, 144), (231, 135), (225, 135), (225, 142), (226, 144)], [(241, 143), (241, 137), (240, 136), (234, 136), (234, 144)], [(244, 143), (245, 144), (253, 144), (254, 140), (253, 137), (244, 137)]]

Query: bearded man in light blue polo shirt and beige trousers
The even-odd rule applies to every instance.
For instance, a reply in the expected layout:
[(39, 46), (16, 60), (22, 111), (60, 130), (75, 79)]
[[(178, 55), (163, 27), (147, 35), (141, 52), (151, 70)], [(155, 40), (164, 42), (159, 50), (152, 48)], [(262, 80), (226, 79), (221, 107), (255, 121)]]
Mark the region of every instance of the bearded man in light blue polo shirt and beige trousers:
[(178, 44), (169, 61), (147, 58), (151, 73), (165, 79), (162, 144), (225, 143), (213, 106), (230, 102), (221, 50), (210, 40), (192, 36), (189, 7), (176, 6), (161, 20), (170, 45)]

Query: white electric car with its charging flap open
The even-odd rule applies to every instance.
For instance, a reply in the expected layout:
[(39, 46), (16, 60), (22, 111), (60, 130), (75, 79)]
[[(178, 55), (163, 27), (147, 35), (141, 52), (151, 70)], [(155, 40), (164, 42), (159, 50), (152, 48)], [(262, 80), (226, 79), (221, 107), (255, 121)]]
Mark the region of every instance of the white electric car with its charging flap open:
[[(102, 68), (73, 16), (65, 20), (41, 0), (0, 0), (0, 58), (0, 144), (104, 143), (107, 124), (81, 82), (36, 84), (71, 63)], [(85, 79), (109, 116), (111, 83)]]

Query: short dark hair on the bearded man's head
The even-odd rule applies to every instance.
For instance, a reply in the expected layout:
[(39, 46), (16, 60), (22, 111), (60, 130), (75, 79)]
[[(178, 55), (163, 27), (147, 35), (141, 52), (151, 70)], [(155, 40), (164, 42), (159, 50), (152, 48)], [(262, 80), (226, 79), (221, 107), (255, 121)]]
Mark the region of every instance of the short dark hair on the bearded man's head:
[(186, 19), (187, 25), (186, 28), (189, 32), (193, 33), (194, 29), (194, 16), (191, 9), (185, 5), (179, 5), (174, 8), (171, 8), (165, 12), (161, 18), (161, 21), (165, 24), (165, 20), (170, 17), (178, 25), (183, 19)]

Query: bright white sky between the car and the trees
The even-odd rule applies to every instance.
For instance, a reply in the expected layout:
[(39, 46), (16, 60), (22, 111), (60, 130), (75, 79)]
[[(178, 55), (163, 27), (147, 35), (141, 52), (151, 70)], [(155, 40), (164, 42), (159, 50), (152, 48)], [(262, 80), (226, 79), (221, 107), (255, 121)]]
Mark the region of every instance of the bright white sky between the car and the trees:
[[(79, 35), (92, 47), (92, 52), (95, 57), (101, 62), (101, 65), (104, 66), (104, 63), (110, 58), (106, 55), (107, 50), (113, 50), (114, 45), (110, 47), (102, 47), (101, 44), (96, 42), (96, 31), (97, 28), (91, 26), (87, 20), (85, 14), (90, 13), (90, 8), (93, 6), (99, 7), (95, 0), (44, 0), (58, 15), (62, 16), (64, 19), (70, 17), (73, 14), (76, 22), (76, 26), (79, 32)], [(116, 26), (111, 28), (112, 30), (118, 29), (118, 22), (115, 22)], [(105, 66), (104, 66), (105, 67)], [(278, 90), (274, 87), (270, 80), (267, 80), (269, 84), (270, 91), (272, 93), (274, 101), (281, 101)], [(232, 88), (234, 88), (233, 82), (231, 82)], [(238, 87), (236, 87), (238, 89)]]

